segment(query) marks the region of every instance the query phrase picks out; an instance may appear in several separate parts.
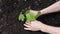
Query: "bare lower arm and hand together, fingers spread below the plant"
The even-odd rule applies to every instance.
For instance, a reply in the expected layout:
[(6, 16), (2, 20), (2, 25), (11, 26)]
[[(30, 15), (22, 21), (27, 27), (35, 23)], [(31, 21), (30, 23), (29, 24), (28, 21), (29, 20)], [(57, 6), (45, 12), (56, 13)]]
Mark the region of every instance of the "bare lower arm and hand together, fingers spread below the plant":
[(25, 30), (31, 30), (31, 31), (41, 30), (43, 32), (48, 32), (50, 34), (60, 34), (60, 27), (48, 26), (40, 21), (26, 22), (24, 26), (27, 27), (24, 28)]

